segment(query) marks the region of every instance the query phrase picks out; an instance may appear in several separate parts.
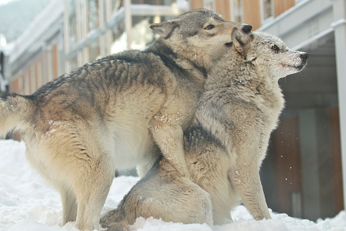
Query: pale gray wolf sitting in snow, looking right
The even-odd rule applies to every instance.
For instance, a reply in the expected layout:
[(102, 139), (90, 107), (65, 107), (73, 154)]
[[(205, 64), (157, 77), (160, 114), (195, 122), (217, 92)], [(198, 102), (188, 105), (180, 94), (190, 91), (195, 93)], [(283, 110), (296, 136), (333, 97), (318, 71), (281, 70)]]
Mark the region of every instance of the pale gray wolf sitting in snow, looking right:
[(126, 230), (139, 216), (219, 225), (232, 221), (240, 201), (256, 220), (271, 218), (259, 170), (284, 105), (278, 80), (301, 71), (308, 55), (266, 33), (244, 41), (234, 29), (232, 36), (233, 50), (207, 78), (184, 133), (192, 180), (161, 157), (101, 218), (109, 231)]

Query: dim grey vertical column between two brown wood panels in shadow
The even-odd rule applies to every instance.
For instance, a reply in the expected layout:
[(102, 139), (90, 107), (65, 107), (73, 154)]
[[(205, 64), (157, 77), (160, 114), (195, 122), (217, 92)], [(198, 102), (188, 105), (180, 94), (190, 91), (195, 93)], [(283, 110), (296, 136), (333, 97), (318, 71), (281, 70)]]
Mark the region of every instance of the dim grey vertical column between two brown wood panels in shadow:
[(303, 218), (315, 220), (320, 217), (321, 205), (314, 109), (299, 112), (299, 134), (302, 158)]

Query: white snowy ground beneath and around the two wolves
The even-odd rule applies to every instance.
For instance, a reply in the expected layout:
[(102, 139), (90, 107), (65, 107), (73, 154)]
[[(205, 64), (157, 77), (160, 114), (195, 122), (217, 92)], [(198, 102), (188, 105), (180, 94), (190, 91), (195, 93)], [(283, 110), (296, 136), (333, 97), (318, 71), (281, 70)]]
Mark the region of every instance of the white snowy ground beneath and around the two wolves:
[[(78, 231), (74, 222), (59, 226), (62, 216), (60, 196), (48, 188), (31, 170), (24, 155), (25, 144), (0, 140), (0, 231)], [(136, 183), (138, 177), (114, 179), (103, 212), (115, 208)], [(215, 231), (346, 231), (346, 212), (331, 219), (309, 220), (286, 214), (271, 214), (273, 219), (255, 221), (243, 206), (232, 213), (234, 222), (214, 226)], [(184, 225), (158, 219), (137, 218), (135, 231), (212, 231), (206, 224)]]

